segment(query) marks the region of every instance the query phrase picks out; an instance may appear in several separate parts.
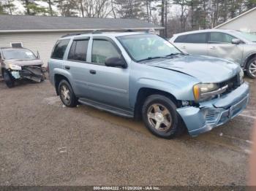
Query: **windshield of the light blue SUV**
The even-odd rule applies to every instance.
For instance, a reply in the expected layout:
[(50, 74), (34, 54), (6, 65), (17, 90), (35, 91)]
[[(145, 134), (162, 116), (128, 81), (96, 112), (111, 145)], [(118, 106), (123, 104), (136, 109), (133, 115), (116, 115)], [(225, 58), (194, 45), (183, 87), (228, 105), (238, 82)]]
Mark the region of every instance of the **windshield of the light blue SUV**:
[(118, 39), (135, 61), (182, 53), (173, 44), (155, 34), (119, 36)]

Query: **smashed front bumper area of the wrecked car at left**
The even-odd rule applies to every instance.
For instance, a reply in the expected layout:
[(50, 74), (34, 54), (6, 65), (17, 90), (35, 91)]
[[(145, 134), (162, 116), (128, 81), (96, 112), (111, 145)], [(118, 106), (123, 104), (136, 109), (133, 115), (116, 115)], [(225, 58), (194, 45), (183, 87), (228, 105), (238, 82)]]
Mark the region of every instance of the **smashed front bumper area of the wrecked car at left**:
[(34, 82), (42, 82), (45, 79), (45, 69), (40, 66), (23, 66), (19, 71), (10, 71), (15, 79), (31, 79)]

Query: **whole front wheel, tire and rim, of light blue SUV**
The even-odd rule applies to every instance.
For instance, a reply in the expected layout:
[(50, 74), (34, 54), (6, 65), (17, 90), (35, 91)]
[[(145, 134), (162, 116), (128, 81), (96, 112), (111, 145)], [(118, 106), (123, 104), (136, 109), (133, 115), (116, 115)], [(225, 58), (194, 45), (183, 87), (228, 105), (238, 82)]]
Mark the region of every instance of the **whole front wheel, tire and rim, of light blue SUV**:
[(146, 128), (161, 138), (173, 139), (184, 132), (176, 104), (164, 95), (148, 96), (143, 104), (142, 116)]

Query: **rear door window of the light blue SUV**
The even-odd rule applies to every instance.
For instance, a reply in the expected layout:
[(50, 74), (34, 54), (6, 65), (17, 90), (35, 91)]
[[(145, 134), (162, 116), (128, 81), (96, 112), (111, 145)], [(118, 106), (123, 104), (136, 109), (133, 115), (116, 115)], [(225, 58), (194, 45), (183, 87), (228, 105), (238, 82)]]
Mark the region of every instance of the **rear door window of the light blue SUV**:
[(86, 61), (89, 40), (75, 40), (69, 50), (69, 60)]

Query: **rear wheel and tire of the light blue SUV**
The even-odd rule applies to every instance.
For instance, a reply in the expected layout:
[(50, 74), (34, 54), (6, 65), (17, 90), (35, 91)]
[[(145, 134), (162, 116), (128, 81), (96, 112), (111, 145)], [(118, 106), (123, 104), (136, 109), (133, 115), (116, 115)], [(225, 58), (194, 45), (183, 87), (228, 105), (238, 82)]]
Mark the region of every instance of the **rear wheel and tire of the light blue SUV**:
[(62, 103), (67, 107), (75, 107), (78, 105), (77, 98), (69, 82), (62, 79), (59, 83), (59, 97), (61, 98)]

